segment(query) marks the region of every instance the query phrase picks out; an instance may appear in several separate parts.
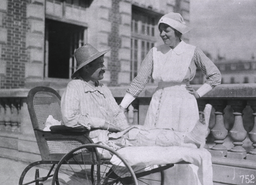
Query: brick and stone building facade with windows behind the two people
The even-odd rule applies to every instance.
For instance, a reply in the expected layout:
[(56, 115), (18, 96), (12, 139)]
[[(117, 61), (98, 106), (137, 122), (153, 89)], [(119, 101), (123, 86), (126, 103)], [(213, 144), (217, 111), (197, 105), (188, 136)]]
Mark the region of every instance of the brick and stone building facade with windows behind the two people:
[(0, 0), (0, 88), (65, 87), (85, 43), (112, 48), (103, 83), (128, 85), (169, 12), (189, 24), (189, 0)]

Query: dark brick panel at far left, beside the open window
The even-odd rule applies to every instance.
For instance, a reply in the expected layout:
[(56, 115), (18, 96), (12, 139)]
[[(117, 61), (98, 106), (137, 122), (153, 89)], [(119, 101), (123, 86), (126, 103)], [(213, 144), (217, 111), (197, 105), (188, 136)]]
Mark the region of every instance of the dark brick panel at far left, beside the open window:
[(30, 0), (8, 0), (2, 26), (7, 30), (7, 42), (2, 44), (2, 61), (6, 62), (6, 74), (1, 77), (0, 88), (24, 86), (26, 51), (26, 6)]

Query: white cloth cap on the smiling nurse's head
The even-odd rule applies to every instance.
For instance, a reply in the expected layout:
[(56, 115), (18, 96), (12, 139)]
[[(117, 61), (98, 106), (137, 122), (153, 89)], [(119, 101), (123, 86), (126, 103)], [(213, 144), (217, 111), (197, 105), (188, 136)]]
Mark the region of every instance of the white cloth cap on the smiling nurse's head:
[(184, 34), (191, 30), (188, 26), (186, 26), (186, 22), (179, 13), (167, 13), (158, 22), (158, 28), (160, 23), (168, 24), (169, 26), (173, 27), (175, 30), (180, 31), (180, 33)]

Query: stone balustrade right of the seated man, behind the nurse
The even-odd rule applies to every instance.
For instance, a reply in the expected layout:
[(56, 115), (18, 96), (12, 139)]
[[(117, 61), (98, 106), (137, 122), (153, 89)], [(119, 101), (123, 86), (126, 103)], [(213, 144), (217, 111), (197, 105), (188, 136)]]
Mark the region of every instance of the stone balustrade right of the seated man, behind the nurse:
[[(193, 87), (198, 89), (200, 85)], [(112, 89), (115, 89), (112, 92), (117, 102), (121, 102), (125, 94), (124, 88)], [(134, 117), (130, 124), (144, 123), (154, 89), (155, 87), (147, 87), (132, 102)], [(197, 100), (200, 115), (206, 104), (213, 107), (209, 124), (211, 131), (206, 141), (206, 148), (209, 148), (212, 156), (256, 161), (255, 95), (255, 84), (224, 84)], [(130, 107), (126, 110), (126, 115)]]

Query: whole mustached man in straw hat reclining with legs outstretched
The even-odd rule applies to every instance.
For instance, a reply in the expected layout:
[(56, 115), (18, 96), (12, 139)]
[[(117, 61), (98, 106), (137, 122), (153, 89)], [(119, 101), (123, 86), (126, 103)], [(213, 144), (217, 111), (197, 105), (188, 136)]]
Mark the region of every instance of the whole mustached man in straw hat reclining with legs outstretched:
[[(110, 49), (109, 49), (110, 50)], [(99, 80), (104, 78), (104, 54), (85, 44), (75, 52), (77, 70), (61, 97), (63, 124), (84, 126), (91, 130), (89, 137), (95, 143), (106, 144), (117, 150), (123, 146), (188, 146), (203, 148), (208, 124), (202, 121), (185, 135), (167, 129), (129, 126), (124, 112), (111, 91)], [(113, 174), (113, 173), (112, 173)]]

